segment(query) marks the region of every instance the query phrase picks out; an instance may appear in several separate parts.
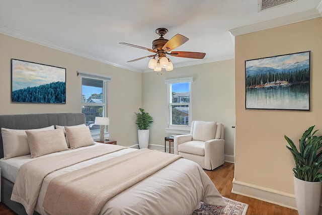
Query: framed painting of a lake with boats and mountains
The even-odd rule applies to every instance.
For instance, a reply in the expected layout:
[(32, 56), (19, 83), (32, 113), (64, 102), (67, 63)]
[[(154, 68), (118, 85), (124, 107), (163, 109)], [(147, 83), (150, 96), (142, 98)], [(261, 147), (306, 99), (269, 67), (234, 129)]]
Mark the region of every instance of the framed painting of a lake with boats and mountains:
[(246, 109), (310, 110), (310, 51), (245, 61)]

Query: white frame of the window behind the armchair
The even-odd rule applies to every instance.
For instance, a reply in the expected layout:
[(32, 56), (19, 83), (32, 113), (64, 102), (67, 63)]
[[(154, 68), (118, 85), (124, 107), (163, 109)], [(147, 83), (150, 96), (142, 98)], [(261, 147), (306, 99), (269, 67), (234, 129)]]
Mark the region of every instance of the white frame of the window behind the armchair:
[[(172, 102), (172, 84), (178, 84), (178, 83), (185, 83), (189, 82), (189, 102), (186, 103), (173, 103)], [(168, 128), (166, 128), (166, 131), (168, 133), (189, 133), (190, 132), (190, 126), (191, 126), (191, 85), (193, 82), (193, 78), (181, 78), (181, 79), (170, 79), (166, 80), (166, 84), (168, 85)], [(172, 124), (172, 106), (176, 105), (188, 105), (189, 107), (189, 114), (188, 114), (188, 125), (173, 125)]]

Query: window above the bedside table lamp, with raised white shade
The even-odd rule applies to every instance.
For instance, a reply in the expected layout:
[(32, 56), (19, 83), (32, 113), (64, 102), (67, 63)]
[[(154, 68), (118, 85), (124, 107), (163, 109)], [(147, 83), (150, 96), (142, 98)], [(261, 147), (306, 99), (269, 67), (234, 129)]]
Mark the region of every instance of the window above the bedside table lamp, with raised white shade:
[(82, 113), (85, 114), (86, 125), (91, 131), (97, 131), (100, 125), (94, 124), (95, 117), (106, 116), (106, 82), (111, 78), (83, 71), (78, 71), (78, 76), (82, 78)]

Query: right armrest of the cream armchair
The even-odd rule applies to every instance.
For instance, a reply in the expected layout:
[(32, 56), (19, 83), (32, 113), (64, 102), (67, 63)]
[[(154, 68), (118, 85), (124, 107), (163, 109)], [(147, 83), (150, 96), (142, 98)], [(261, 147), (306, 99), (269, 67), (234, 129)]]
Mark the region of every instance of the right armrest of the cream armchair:
[(225, 140), (210, 139), (205, 141), (205, 167), (214, 169), (225, 161)]

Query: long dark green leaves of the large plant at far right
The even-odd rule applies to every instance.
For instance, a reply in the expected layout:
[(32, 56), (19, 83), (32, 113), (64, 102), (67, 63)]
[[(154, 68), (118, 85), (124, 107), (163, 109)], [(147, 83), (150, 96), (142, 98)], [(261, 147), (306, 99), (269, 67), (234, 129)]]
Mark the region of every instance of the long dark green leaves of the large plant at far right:
[(309, 127), (299, 139), (299, 150), (294, 142), (284, 135), (289, 146), (286, 148), (292, 153), (295, 168), (294, 176), (303, 181), (317, 182), (322, 181), (322, 136), (315, 136), (317, 130), (313, 131), (314, 125)]

